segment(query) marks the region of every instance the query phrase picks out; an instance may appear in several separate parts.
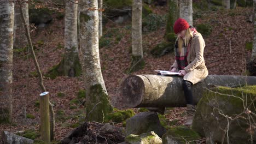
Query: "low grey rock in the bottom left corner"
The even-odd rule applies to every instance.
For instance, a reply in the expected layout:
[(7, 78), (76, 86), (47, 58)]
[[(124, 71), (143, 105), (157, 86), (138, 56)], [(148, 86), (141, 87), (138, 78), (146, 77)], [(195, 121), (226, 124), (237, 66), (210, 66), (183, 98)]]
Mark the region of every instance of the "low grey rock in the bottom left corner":
[(8, 131), (3, 131), (2, 142), (3, 144), (30, 144), (34, 141), (31, 139), (27, 139), (26, 137), (9, 133)]

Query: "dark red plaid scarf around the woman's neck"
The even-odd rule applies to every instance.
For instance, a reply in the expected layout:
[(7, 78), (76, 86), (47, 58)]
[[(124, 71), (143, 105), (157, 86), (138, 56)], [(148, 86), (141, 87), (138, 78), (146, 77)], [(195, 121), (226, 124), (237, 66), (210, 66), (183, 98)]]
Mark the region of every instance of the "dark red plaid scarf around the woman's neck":
[[(197, 32), (196, 29), (193, 26), (189, 26), (189, 28), (193, 32), (193, 36), (194, 36)], [(178, 40), (175, 43), (174, 53), (175, 53), (176, 62), (178, 63), (178, 70), (184, 69), (188, 65), (187, 56), (190, 49), (191, 40), (192, 38), (190, 39), (187, 47), (185, 46), (185, 43), (183, 43), (181, 53), (179, 53)]]

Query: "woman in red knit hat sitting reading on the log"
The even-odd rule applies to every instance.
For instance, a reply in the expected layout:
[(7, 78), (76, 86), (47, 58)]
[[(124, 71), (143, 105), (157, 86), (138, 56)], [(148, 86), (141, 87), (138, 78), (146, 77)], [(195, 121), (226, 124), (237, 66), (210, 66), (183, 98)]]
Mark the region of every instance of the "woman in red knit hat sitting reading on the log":
[(175, 61), (170, 67), (171, 72), (181, 73), (183, 77), (183, 91), (187, 101), (187, 122), (184, 125), (191, 125), (195, 115), (195, 104), (191, 86), (202, 81), (208, 75), (203, 58), (205, 41), (202, 35), (196, 31), (188, 22), (179, 18), (173, 26), (174, 33), (178, 35), (175, 43)]

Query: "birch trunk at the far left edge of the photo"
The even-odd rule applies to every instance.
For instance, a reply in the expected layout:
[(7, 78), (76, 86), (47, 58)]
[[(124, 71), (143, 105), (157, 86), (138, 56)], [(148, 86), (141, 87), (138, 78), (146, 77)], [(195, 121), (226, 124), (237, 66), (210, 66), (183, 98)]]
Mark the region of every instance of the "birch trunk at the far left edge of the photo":
[(0, 0), (0, 34), (0, 123), (10, 123), (13, 111), (13, 2)]

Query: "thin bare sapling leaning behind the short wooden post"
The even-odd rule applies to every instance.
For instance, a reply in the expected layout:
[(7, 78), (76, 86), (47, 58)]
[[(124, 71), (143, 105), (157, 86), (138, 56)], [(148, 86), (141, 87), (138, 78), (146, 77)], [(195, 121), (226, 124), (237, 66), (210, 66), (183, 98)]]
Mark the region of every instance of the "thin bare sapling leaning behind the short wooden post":
[[(20, 5), (22, 5), (22, 2), (21, 2)], [(34, 65), (36, 67), (37, 74), (39, 75), (39, 78), (38, 78), (39, 79), (39, 86), (40, 86), (42, 92), (46, 92), (46, 89), (45, 89), (44, 83), (43, 83), (43, 75), (40, 71), (40, 67), (39, 67), (39, 64), (37, 62), (36, 54), (34, 53), (33, 44), (32, 44), (31, 38), (30, 38), (30, 31), (29, 31), (29, 28), (28, 28), (28, 25), (26, 23), (25, 16), (23, 14), (23, 11), (22, 11), (21, 7), (20, 7), (20, 14), (21, 14), (22, 21), (24, 23), (25, 31), (26, 31), (25, 35), (26, 35), (26, 38), (27, 38), (27, 41), (28, 41), (28, 47), (30, 47), (30, 49), (31, 49)], [(53, 104), (51, 104), (50, 102), (49, 102), (49, 113), (50, 113), (50, 139), (54, 140), (55, 116), (54, 116)]]

